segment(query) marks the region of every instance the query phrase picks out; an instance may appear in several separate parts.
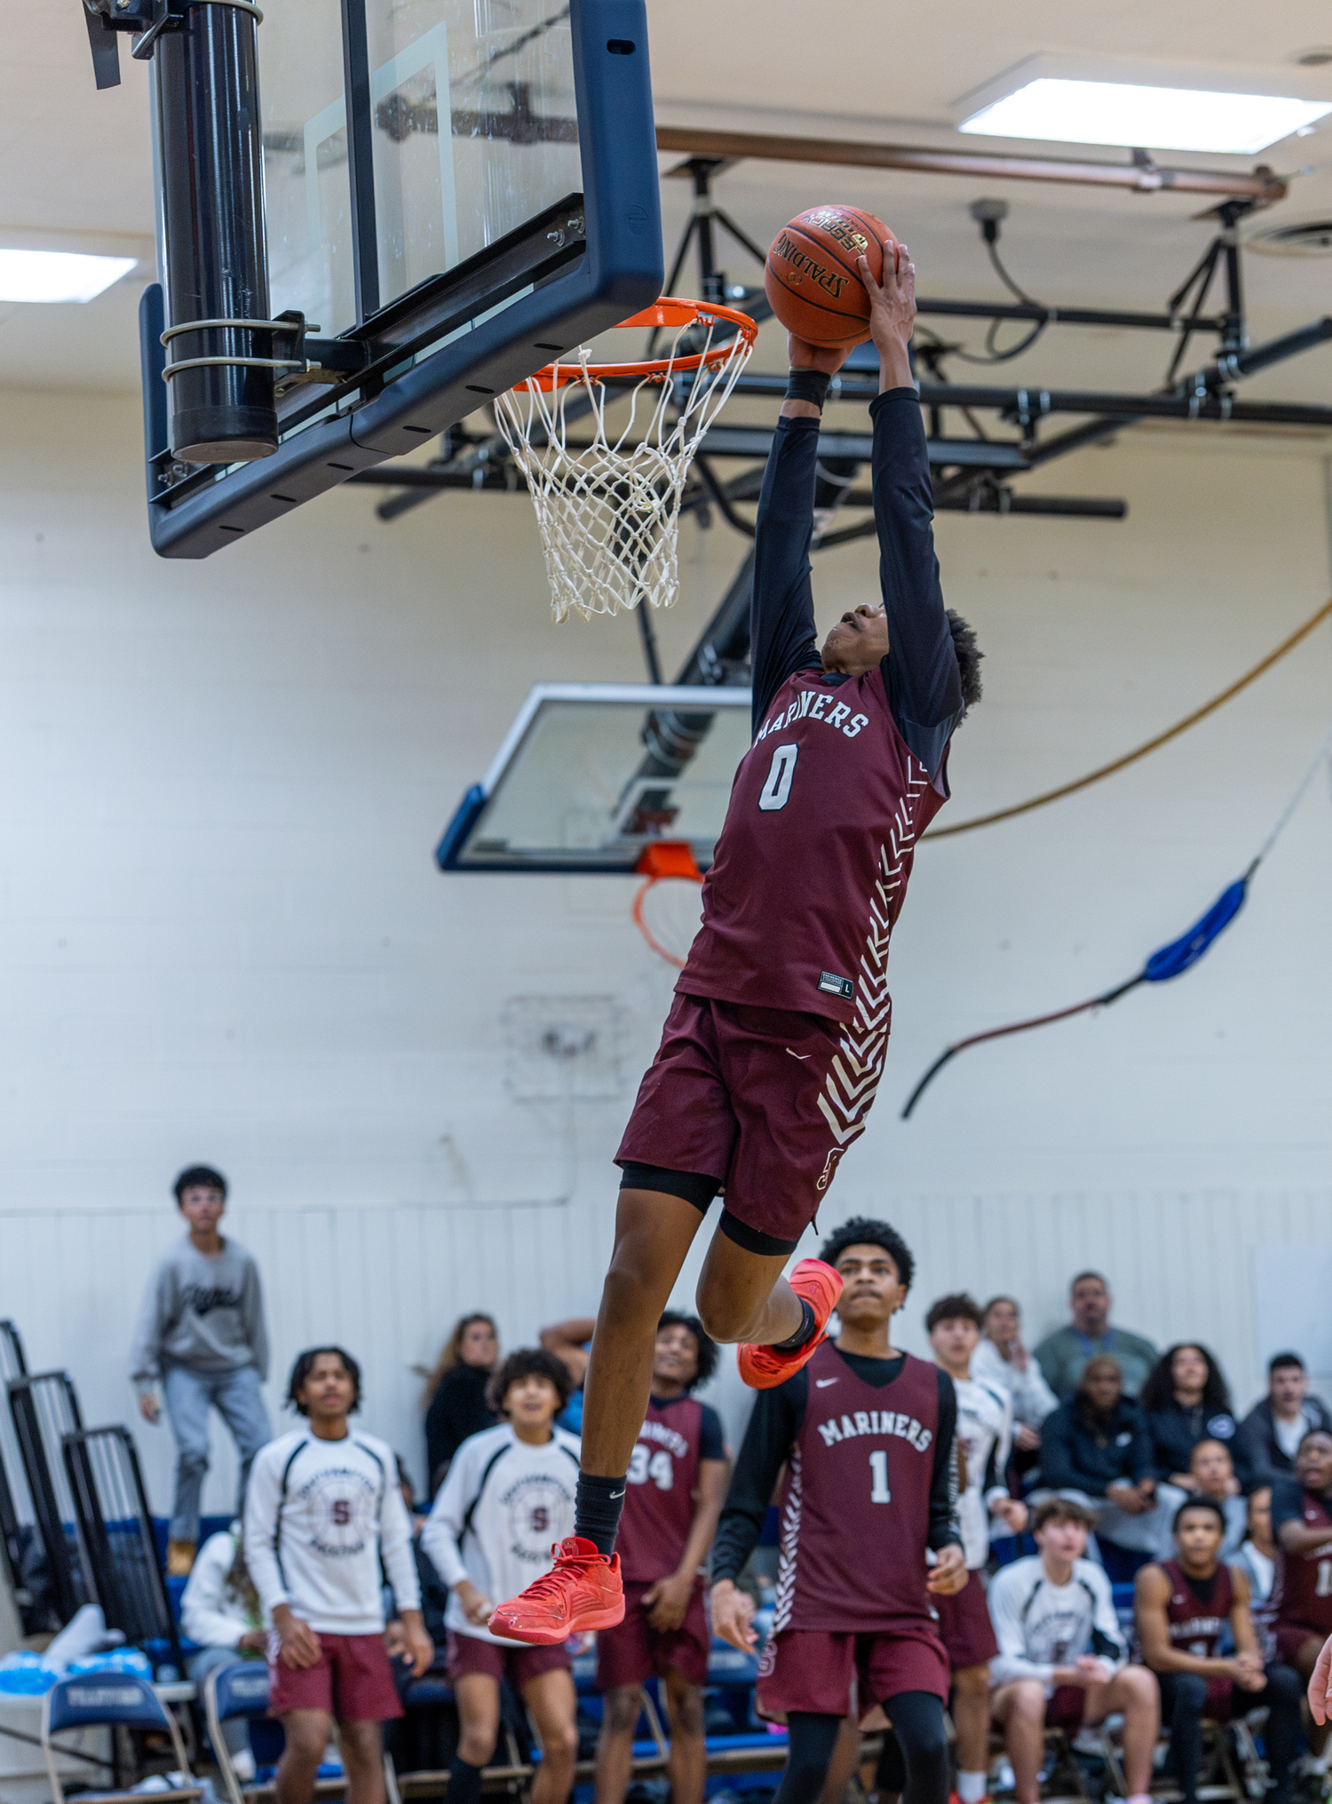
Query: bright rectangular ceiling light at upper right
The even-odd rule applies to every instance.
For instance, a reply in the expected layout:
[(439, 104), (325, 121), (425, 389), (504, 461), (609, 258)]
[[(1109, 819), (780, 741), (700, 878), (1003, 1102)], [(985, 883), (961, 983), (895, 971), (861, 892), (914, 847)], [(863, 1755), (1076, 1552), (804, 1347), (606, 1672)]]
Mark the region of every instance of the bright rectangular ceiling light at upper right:
[(1145, 150), (1265, 150), (1332, 112), (1332, 101), (1280, 94), (1213, 94), (1148, 88), (1128, 81), (1063, 81), (1040, 76), (984, 106), (959, 130), (986, 137), (1044, 137), (1067, 144), (1127, 144)]

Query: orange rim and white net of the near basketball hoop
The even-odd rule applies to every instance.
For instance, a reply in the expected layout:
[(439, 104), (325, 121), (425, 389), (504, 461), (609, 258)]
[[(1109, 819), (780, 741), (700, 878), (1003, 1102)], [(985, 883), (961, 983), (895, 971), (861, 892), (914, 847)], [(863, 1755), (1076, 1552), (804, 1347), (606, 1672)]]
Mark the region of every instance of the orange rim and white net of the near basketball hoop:
[[(676, 599), (689, 465), (759, 332), (732, 307), (674, 299), (622, 325), (674, 330), (667, 355), (591, 363), (580, 345), (571, 363), (550, 363), (496, 399), (496, 424), (537, 509), (557, 621)], [(606, 415), (620, 400), (629, 417), (615, 429)]]

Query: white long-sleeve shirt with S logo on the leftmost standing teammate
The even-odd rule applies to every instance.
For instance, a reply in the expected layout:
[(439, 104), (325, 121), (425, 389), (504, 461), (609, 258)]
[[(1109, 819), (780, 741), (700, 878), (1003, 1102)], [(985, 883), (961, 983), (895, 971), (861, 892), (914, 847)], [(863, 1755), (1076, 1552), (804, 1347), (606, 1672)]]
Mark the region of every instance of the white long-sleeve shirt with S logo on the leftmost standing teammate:
[(315, 1633), (377, 1634), (380, 1557), (398, 1609), (420, 1609), (411, 1521), (386, 1441), (360, 1431), (323, 1441), (301, 1427), (260, 1449), (245, 1564), (269, 1616), (290, 1604)]

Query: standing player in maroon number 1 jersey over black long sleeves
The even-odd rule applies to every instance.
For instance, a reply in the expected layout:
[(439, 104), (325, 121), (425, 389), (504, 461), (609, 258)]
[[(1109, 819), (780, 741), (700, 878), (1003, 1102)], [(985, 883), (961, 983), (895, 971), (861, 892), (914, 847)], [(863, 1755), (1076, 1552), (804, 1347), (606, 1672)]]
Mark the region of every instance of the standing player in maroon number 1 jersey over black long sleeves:
[(953, 1380), (892, 1349), (912, 1256), (887, 1221), (847, 1221), (820, 1257), (844, 1283), (842, 1333), (753, 1405), (712, 1551), (712, 1627), (753, 1645), (753, 1604), (735, 1578), (786, 1467), (757, 1687), (762, 1714), (786, 1717), (789, 1732), (777, 1804), (813, 1804), (842, 1723), (876, 1705), (901, 1746), (910, 1804), (946, 1804), (948, 1656), (932, 1597), (966, 1584)]

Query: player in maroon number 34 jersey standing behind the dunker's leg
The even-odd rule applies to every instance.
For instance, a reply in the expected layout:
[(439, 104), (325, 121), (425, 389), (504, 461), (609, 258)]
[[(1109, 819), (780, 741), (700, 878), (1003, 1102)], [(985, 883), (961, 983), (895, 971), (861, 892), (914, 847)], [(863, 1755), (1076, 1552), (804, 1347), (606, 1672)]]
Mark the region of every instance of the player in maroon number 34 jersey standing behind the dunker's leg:
[(652, 1396), (629, 1461), (620, 1521), (624, 1622), (597, 1636), (595, 1804), (624, 1804), (633, 1772), (642, 1685), (658, 1678), (671, 1705), (667, 1777), (672, 1804), (703, 1804), (708, 1752), (703, 1685), (708, 1618), (703, 1566), (717, 1532), (730, 1459), (716, 1409), (690, 1393), (717, 1369), (717, 1348), (694, 1315), (658, 1322)]

